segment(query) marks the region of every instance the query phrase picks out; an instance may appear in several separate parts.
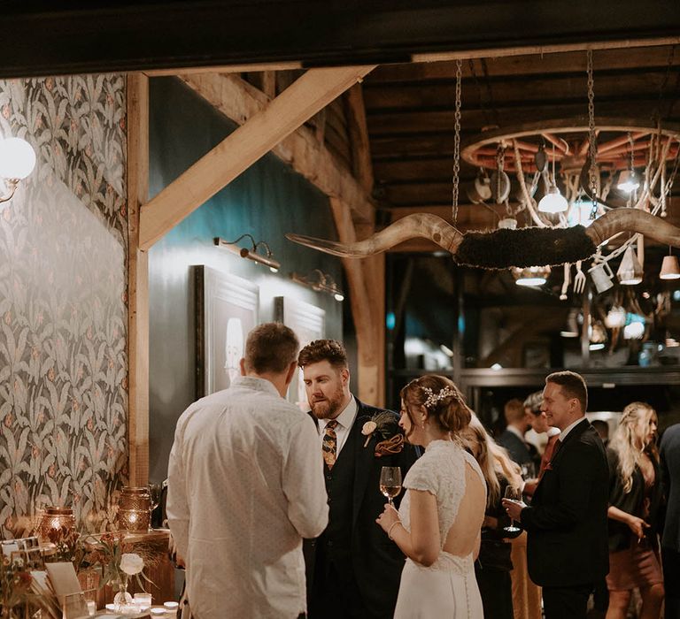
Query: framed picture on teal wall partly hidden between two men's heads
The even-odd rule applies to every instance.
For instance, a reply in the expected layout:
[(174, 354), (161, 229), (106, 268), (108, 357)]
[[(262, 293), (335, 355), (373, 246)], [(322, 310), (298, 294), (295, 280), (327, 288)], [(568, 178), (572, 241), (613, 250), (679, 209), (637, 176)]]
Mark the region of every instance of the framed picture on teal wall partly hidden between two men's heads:
[[(285, 296), (274, 297), (274, 320), (290, 326), (300, 340), (300, 348), (313, 340), (321, 340), (326, 332), (326, 312), (298, 299)], [(302, 370), (298, 370), (290, 383), (288, 400), (303, 411), (309, 410)]]

